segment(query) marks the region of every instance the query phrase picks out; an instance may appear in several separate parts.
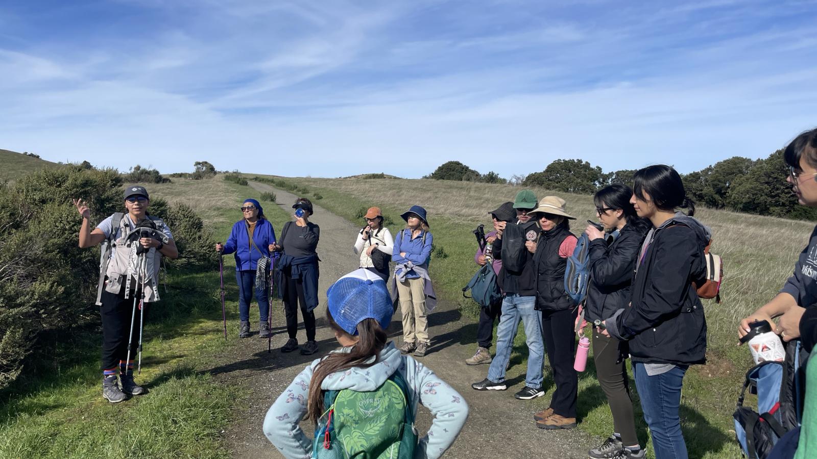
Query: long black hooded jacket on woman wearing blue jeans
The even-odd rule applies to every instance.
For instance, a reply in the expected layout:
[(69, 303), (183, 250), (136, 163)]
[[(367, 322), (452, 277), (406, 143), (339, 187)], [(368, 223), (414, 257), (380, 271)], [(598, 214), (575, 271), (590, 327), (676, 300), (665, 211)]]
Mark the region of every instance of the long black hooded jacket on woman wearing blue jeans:
[(631, 306), (607, 322), (609, 333), (629, 340), (634, 362), (705, 363), (707, 323), (694, 283), (706, 279), (703, 248), (710, 232), (676, 214), (650, 237), (637, 262)]

